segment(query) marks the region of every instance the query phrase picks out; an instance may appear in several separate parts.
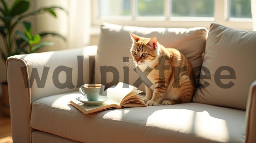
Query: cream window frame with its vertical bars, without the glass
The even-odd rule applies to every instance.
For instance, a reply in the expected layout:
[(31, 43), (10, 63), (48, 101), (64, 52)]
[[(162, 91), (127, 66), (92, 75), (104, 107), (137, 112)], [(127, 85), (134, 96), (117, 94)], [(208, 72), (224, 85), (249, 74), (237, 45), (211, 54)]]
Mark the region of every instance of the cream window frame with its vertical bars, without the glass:
[[(131, 16), (102, 17), (98, 16), (99, 0), (92, 0), (92, 26), (98, 27), (102, 22), (143, 27), (209, 27), (211, 23), (219, 23), (238, 29), (252, 30), (252, 19), (229, 18), (229, 0), (214, 0), (214, 17), (170, 17), (171, 0), (164, 0), (164, 17), (136, 16), (136, 0), (131, 0)], [(188, 22), (189, 21), (189, 22)]]

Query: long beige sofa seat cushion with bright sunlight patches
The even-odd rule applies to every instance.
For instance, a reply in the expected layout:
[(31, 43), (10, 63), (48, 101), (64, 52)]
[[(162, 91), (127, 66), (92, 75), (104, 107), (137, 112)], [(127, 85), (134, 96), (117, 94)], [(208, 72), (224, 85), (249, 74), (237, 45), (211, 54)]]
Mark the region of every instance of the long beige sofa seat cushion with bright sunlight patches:
[(32, 104), (30, 126), (80, 142), (244, 142), (245, 111), (201, 103), (133, 107), (83, 114), (79, 92)]

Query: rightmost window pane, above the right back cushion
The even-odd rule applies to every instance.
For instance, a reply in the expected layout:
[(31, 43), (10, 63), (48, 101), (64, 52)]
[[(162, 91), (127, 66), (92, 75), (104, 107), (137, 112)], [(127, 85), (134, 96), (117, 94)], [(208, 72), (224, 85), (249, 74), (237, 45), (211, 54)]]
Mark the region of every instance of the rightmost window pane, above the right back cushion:
[(251, 18), (250, 0), (229, 0), (230, 18)]

